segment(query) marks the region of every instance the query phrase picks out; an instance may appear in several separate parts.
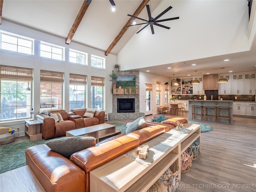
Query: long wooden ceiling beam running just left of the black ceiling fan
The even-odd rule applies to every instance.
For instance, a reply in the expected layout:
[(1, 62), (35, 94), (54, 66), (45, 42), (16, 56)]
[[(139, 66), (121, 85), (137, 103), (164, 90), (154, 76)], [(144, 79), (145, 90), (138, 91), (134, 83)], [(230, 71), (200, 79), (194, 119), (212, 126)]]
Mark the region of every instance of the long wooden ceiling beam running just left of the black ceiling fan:
[[(142, 12), (142, 10), (144, 9), (144, 7), (146, 6), (146, 4), (148, 4), (149, 0), (143, 0), (140, 4), (140, 6), (138, 6), (138, 8), (136, 9), (136, 11), (134, 12), (133, 16), (138, 17), (138, 15), (140, 14), (140, 12)], [(130, 17), (130, 19), (128, 20), (128, 22), (124, 25), (124, 27), (121, 29), (121, 31), (118, 33), (118, 35), (116, 36), (116, 38), (113, 40), (113, 42), (110, 44), (110, 46), (107, 48), (107, 50), (105, 51), (105, 55), (107, 56), (110, 51), (114, 48), (114, 46), (117, 44), (117, 42), (121, 39), (121, 37), (124, 35), (124, 33), (128, 30), (128, 25), (132, 24), (132, 21), (134, 20), (134, 18)]]

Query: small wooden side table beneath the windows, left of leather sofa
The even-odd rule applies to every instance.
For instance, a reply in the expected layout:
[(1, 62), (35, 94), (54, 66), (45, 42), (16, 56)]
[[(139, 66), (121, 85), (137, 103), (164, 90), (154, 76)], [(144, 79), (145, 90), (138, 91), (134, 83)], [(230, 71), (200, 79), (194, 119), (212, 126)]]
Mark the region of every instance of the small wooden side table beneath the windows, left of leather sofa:
[(25, 120), (25, 133), (29, 136), (30, 141), (38, 141), (42, 139), (42, 133), (40, 133), (40, 124), (38, 120)]

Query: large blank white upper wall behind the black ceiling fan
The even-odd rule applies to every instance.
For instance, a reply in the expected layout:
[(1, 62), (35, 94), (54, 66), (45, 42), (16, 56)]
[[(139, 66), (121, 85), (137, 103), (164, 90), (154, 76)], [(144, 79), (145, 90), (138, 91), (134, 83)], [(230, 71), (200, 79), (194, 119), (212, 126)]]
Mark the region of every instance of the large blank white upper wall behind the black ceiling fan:
[[(154, 10), (170, 29), (148, 26), (134, 34), (118, 54), (123, 70), (207, 58), (249, 50), (246, 0), (163, 0)], [(254, 28), (253, 28), (254, 29)], [(254, 29), (255, 30), (255, 29)], [(253, 33), (254, 34), (254, 33)]]

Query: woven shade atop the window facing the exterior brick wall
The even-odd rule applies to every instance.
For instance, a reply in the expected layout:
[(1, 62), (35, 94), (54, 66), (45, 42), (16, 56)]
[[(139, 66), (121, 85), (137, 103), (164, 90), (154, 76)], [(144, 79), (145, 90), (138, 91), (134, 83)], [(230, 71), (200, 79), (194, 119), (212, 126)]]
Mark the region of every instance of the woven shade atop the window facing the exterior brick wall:
[(64, 73), (62, 72), (41, 70), (40, 73), (41, 82), (63, 83), (64, 81)]

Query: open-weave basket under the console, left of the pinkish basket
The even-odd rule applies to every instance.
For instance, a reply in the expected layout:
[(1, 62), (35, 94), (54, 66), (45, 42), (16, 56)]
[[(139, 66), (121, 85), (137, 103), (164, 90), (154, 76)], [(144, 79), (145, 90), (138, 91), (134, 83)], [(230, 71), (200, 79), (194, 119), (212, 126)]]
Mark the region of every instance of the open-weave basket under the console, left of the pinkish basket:
[(176, 162), (174, 162), (174, 164), (172, 164), (170, 168), (168, 168), (164, 172), (164, 174), (162, 174), (158, 181), (162, 182), (166, 186), (168, 192), (174, 192), (179, 185), (179, 172), (179, 165)]

